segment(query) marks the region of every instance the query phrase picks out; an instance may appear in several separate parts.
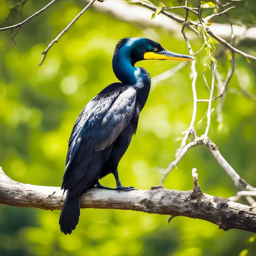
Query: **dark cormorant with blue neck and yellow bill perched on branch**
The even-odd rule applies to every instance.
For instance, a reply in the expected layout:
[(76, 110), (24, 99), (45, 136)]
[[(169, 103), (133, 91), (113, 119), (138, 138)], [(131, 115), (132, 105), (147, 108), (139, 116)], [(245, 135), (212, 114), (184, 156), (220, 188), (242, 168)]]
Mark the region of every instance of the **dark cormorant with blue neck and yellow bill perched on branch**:
[[(59, 225), (71, 234), (79, 222), (79, 196), (88, 189), (135, 190), (122, 186), (117, 166), (135, 135), (139, 114), (150, 90), (150, 75), (135, 63), (142, 60), (193, 61), (192, 56), (169, 52), (148, 38), (123, 38), (117, 43), (112, 68), (120, 82), (112, 83), (83, 108), (68, 143), (61, 189), (67, 191)], [(112, 173), (117, 187), (108, 188), (99, 179)], [(64, 194), (64, 193), (63, 193)]]

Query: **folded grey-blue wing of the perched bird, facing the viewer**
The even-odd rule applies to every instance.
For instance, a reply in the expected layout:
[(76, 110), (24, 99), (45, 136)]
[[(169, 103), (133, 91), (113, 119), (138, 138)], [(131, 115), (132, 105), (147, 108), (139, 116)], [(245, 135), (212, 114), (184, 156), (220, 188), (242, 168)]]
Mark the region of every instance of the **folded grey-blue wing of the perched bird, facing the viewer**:
[(69, 141), (66, 171), (74, 158), (79, 163), (94, 151), (109, 147), (129, 124), (137, 92), (128, 87), (116, 94), (109, 95), (107, 99), (94, 97), (79, 115)]

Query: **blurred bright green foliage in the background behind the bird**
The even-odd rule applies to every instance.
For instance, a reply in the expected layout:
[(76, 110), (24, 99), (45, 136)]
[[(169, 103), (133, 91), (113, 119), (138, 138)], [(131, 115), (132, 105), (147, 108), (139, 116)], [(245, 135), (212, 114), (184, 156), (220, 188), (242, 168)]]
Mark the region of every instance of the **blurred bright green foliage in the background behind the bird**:
[[(184, 4), (183, 1), (162, 2), (166, 6)], [(1, 1), (1, 27), (14, 22), (10, 17), (4, 22), (13, 3), (16, 1)], [(45, 0), (27, 1), (19, 13), (19, 21), (46, 3)], [(76, 117), (94, 95), (117, 81), (111, 60), (120, 38), (148, 37), (173, 52), (188, 54), (184, 40), (164, 30), (126, 24), (92, 8), (52, 47), (45, 63), (38, 67), (43, 50), (84, 4), (83, 1), (57, 1), (20, 29), (15, 38), (17, 45), (11, 40), (10, 31), (0, 32), (0, 166), (18, 182), (61, 186), (67, 141)], [(191, 1), (191, 4), (196, 6), (198, 2)], [(230, 11), (233, 21), (255, 24), (256, 2), (234, 4), (237, 9)], [(184, 14), (184, 10), (177, 10), (179, 12)], [(216, 21), (228, 22), (228, 19), (225, 16)], [(191, 45), (196, 52), (202, 40), (192, 37)], [(239, 47), (256, 55), (255, 44)], [(218, 47), (218, 69), (225, 77), (230, 56), (223, 55), (222, 47)], [(196, 56), (196, 61), (200, 74), (204, 70), (205, 52)], [(137, 65), (155, 76), (177, 63), (144, 61)], [(236, 55), (236, 72), (226, 95), (223, 122), (216, 121), (214, 111), (209, 132), (227, 161), (253, 186), (256, 186), (256, 107), (255, 96), (250, 95), (256, 94), (255, 73), (254, 62), (249, 64)], [(211, 72), (208, 70), (205, 75), (210, 79)], [(162, 174), (158, 170), (166, 168), (174, 159), (181, 133), (191, 120), (190, 83), (188, 65), (150, 92), (137, 134), (119, 164), (124, 186), (150, 189), (159, 185)], [(199, 98), (208, 97), (200, 75), (197, 90)], [(213, 107), (216, 106), (217, 101), (213, 102)], [(206, 111), (207, 103), (199, 103), (197, 121)], [(205, 125), (205, 119), (196, 125), (199, 135), (204, 133)], [(205, 193), (226, 198), (236, 193), (230, 178), (204, 146), (189, 150), (178, 169), (168, 176), (166, 188), (193, 189), (191, 169), (194, 167), (198, 169)], [(109, 175), (102, 184), (115, 186), (114, 178)], [(256, 253), (256, 236), (252, 233), (225, 232), (202, 220), (176, 217), (168, 224), (168, 216), (83, 209), (76, 230), (71, 236), (65, 236), (59, 229), (59, 214), (60, 211), (0, 205), (0, 255), (253, 256)]]

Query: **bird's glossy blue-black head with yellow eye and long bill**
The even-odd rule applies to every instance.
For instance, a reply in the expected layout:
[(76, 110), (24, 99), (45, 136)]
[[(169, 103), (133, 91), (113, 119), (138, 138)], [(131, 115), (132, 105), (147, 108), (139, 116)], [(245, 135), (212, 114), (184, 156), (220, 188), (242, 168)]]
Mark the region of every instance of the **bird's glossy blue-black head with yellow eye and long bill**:
[(169, 52), (159, 43), (147, 38), (123, 38), (115, 48), (114, 56), (120, 54), (128, 58), (134, 66), (137, 61), (142, 60), (177, 60), (177, 61), (194, 61), (192, 56)]

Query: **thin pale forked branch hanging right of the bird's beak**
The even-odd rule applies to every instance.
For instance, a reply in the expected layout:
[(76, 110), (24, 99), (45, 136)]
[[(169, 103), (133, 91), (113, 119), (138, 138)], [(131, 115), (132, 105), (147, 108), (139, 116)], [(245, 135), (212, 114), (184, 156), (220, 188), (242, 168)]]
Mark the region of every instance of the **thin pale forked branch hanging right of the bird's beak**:
[[(185, 7), (186, 6), (187, 6), (187, 1), (185, 1)], [(200, 12), (200, 9), (198, 9), (198, 11)], [(193, 49), (192, 49), (192, 47), (189, 43), (189, 39), (187, 38), (187, 36), (185, 34), (185, 31), (184, 31), (184, 29), (186, 27), (186, 24), (187, 24), (188, 15), (189, 15), (189, 9), (186, 9), (186, 18), (185, 18), (183, 26), (182, 26), (182, 34), (183, 34), (184, 39), (185, 39), (185, 41), (187, 43), (187, 46), (189, 48), (189, 52), (193, 56), (195, 54), (193, 54)], [(202, 22), (202, 20), (201, 20), (201, 22)], [(191, 83), (192, 92), (193, 92), (193, 114), (192, 114), (192, 118), (191, 118), (191, 123), (190, 123), (189, 128), (184, 132), (185, 135), (182, 139), (182, 143), (180, 145), (180, 148), (178, 148), (178, 150), (175, 154), (175, 160), (169, 164), (169, 166), (166, 168), (166, 170), (164, 172), (164, 176), (162, 178), (161, 184), (164, 183), (164, 180), (166, 179), (167, 175), (173, 170), (173, 168), (175, 168), (177, 166), (177, 164), (180, 162), (180, 160), (184, 157), (184, 155), (186, 154), (186, 152), (190, 148), (195, 147), (195, 146), (200, 145), (200, 144), (203, 144), (203, 145), (207, 146), (210, 149), (211, 153), (216, 158), (216, 160), (218, 161), (220, 166), (231, 177), (235, 186), (239, 190), (256, 191), (256, 188), (254, 188), (253, 186), (248, 184), (245, 180), (243, 180), (243, 178), (241, 178), (236, 173), (236, 171), (229, 165), (229, 163), (225, 160), (225, 158), (222, 157), (222, 155), (220, 154), (220, 152), (218, 150), (218, 147), (213, 143), (213, 141), (211, 141), (211, 139), (209, 139), (209, 137), (207, 137), (208, 132), (209, 132), (209, 128), (210, 128), (210, 123), (211, 123), (211, 113), (214, 110), (214, 109), (211, 108), (211, 102), (214, 99), (217, 99), (217, 98), (221, 97), (224, 94), (225, 89), (226, 89), (226, 87), (227, 87), (227, 85), (228, 85), (228, 83), (231, 79), (231, 76), (234, 73), (235, 57), (234, 57), (234, 51), (231, 51), (231, 53), (232, 53), (232, 67), (231, 67), (231, 69), (229, 69), (229, 72), (227, 74), (227, 78), (226, 78), (224, 83), (222, 83), (222, 81), (219, 77), (219, 79), (218, 79), (218, 80), (220, 80), (219, 83), (221, 82), (221, 84), (222, 84), (221, 94), (218, 97), (213, 98), (217, 61), (213, 57), (214, 47), (211, 45), (211, 41), (206, 36), (207, 35), (207, 27), (204, 24), (204, 22), (201, 23), (201, 26), (202, 26), (202, 33), (201, 34), (202, 34), (202, 38), (204, 39), (204, 45), (208, 45), (208, 48), (209, 48), (208, 52), (207, 52), (207, 58), (211, 61), (211, 70), (212, 70), (212, 72), (211, 72), (211, 89), (209, 88), (207, 80), (204, 76), (204, 72), (206, 71), (206, 69), (202, 73), (204, 81), (205, 81), (205, 83), (206, 83), (206, 85), (209, 89), (209, 92), (210, 92), (209, 99), (200, 100), (200, 99), (197, 98), (197, 92), (196, 92), (196, 88), (195, 88), (195, 82), (196, 82), (196, 79), (197, 79), (197, 72), (195, 70), (195, 62), (193, 62), (193, 63), (191, 63), (191, 72), (192, 72), (192, 77), (193, 77), (193, 81)], [(205, 32), (205, 33), (203, 33), (203, 32)], [(206, 62), (206, 64), (207, 63), (209, 63), (209, 61)], [(218, 78), (218, 75), (217, 75), (217, 78)], [(194, 124), (195, 124), (195, 117), (196, 117), (196, 113), (197, 113), (198, 102), (200, 102), (200, 101), (208, 102), (208, 109), (207, 109), (207, 125), (206, 125), (206, 129), (205, 129), (205, 133), (204, 133), (204, 135), (201, 135), (200, 137), (198, 137), (197, 134), (196, 134), (195, 128), (194, 128)], [(194, 140), (192, 142), (186, 144), (187, 140), (189, 139), (189, 136), (191, 134), (193, 134)], [(255, 205), (255, 201), (251, 196), (247, 196), (246, 199), (247, 199), (248, 202), (252, 202), (252, 205)]]

